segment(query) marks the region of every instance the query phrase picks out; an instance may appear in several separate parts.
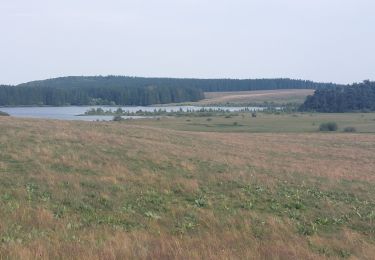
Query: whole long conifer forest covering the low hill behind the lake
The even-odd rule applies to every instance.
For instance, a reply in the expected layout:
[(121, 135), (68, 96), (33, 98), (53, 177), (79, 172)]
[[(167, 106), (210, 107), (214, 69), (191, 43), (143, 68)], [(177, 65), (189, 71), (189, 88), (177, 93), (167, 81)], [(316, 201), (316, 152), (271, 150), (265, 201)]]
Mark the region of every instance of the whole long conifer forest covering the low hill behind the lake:
[(197, 101), (203, 92), (320, 89), (331, 83), (292, 79), (175, 79), (125, 76), (63, 77), (0, 86), (0, 106), (151, 105)]

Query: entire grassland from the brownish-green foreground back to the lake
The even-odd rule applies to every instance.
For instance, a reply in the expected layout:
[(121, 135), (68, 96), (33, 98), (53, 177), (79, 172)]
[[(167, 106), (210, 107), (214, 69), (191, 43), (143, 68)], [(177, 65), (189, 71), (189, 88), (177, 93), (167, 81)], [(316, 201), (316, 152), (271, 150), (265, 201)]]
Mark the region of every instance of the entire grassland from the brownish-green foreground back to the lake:
[(0, 259), (373, 259), (374, 132), (373, 113), (0, 117)]

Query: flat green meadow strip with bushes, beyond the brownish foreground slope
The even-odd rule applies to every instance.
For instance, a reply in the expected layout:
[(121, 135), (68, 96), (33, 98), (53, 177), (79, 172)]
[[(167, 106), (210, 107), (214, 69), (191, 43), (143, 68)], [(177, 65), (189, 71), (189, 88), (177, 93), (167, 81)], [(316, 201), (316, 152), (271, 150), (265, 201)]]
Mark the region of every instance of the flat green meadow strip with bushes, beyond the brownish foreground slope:
[(127, 124), (199, 132), (314, 133), (326, 122), (336, 122), (338, 132), (354, 127), (359, 133), (375, 133), (375, 113), (257, 113), (252, 117), (247, 112), (128, 120)]

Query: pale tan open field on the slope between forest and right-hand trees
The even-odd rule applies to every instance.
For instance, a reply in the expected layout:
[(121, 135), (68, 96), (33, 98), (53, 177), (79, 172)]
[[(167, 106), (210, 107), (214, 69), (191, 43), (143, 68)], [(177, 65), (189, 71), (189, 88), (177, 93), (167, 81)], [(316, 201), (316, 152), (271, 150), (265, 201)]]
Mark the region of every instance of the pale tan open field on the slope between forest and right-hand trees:
[(251, 103), (262, 104), (273, 102), (275, 104), (303, 103), (308, 95), (312, 95), (312, 89), (279, 89), (259, 91), (237, 92), (206, 92), (205, 99), (200, 104), (226, 104), (226, 103)]

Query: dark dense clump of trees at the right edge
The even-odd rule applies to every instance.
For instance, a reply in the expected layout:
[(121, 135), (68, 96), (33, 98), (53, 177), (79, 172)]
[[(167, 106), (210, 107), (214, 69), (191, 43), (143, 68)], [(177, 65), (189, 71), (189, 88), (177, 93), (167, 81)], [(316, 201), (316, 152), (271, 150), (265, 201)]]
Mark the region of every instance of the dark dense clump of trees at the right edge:
[(344, 87), (324, 88), (308, 96), (302, 111), (375, 111), (375, 82), (364, 81)]

